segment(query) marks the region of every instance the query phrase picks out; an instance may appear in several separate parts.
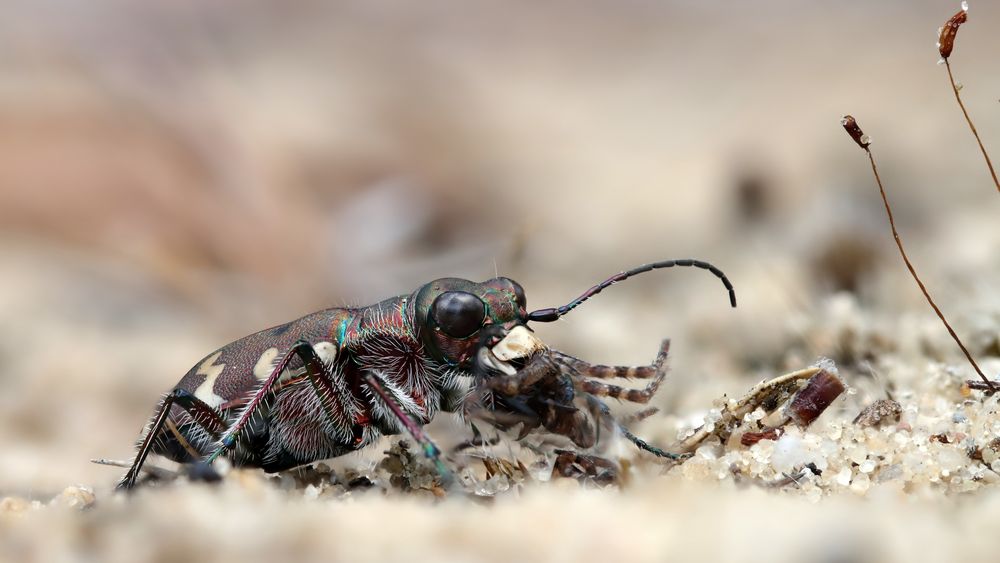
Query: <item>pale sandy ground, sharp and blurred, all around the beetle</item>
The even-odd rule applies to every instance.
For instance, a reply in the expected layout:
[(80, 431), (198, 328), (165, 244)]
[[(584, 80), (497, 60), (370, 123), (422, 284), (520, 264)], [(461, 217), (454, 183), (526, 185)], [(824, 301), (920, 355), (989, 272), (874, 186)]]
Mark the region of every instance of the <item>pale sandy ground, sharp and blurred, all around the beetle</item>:
[[(838, 123), (874, 138), (912, 258), (1000, 374), (1000, 197), (934, 65), (957, 5), (423, 4), (13, 3), (0, 559), (995, 560), (997, 398), (963, 390), (974, 372)], [(998, 28), (1000, 6), (973, 3), (953, 58), (987, 147)], [(653, 274), (539, 334), (613, 364), (671, 337), (661, 412), (633, 428), (668, 449), (829, 358), (848, 391), (813, 425), (682, 464), (616, 444), (610, 487), (552, 477), (525, 447), (544, 436), (508, 438), (449, 454), (466, 490), (443, 497), (395, 440), (129, 497), (89, 462), (126, 459), (159, 394), (261, 327), (445, 275), (499, 272), (557, 305), (687, 256), (722, 267), (740, 307), (702, 272)], [(890, 396), (898, 421), (853, 422)], [(428, 431), (468, 437), (446, 416)], [(489, 477), (483, 457), (527, 473)]]

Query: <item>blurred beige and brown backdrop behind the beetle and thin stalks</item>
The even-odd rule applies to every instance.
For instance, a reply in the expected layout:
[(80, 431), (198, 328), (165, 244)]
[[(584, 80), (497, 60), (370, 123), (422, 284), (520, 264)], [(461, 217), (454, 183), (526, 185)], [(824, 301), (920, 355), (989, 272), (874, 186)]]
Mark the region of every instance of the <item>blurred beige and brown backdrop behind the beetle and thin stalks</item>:
[[(619, 364), (671, 337), (659, 401), (679, 415), (820, 355), (957, 362), (844, 113), (925, 281), (995, 366), (1000, 200), (935, 65), (957, 10), (8, 0), (0, 492), (110, 485), (88, 460), (129, 457), (209, 351), (444, 276), (506, 275), (547, 307), (643, 262), (713, 262), (738, 309), (671, 271), (539, 327)], [(973, 2), (952, 62), (1000, 155), (998, 29), (1000, 5)]]

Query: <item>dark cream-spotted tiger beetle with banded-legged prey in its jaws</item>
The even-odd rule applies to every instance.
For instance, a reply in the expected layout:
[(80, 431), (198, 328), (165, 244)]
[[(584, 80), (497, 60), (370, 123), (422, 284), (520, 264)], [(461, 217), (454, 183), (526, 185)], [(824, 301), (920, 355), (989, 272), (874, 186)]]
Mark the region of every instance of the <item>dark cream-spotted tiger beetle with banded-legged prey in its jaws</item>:
[[(527, 323), (555, 321), (614, 283), (674, 266), (708, 270), (736, 306), (733, 286), (718, 268), (667, 260), (612, 276), (562, 307), (530, 313), (524, 290), (509, 278), (442, 278), (409, 295), (325, 309), (251, 334), (203, 358), (164, 397), (118, 488), (135, 485), (150, 453), (181, 463), (210, 464), (224, 456), (235, 466), (276, 472), (403, 430), (450, 483), (440, 450), (422, 429), (439, 411), (486, 412), (482, 418), (499, 426), (504, 420), (543, 426), (589, 447), (596, 430), (576, 414), (576, 395), (593, 398), (585, 408), (597, 414), (607, 407), (596, 396), (648, 400), (662, 379), (665, 349), (659, 363), (646, 368), (590, 366), (549, 351)], [(627, 391), (581, 375), (652, 377), (654, 384)]]

